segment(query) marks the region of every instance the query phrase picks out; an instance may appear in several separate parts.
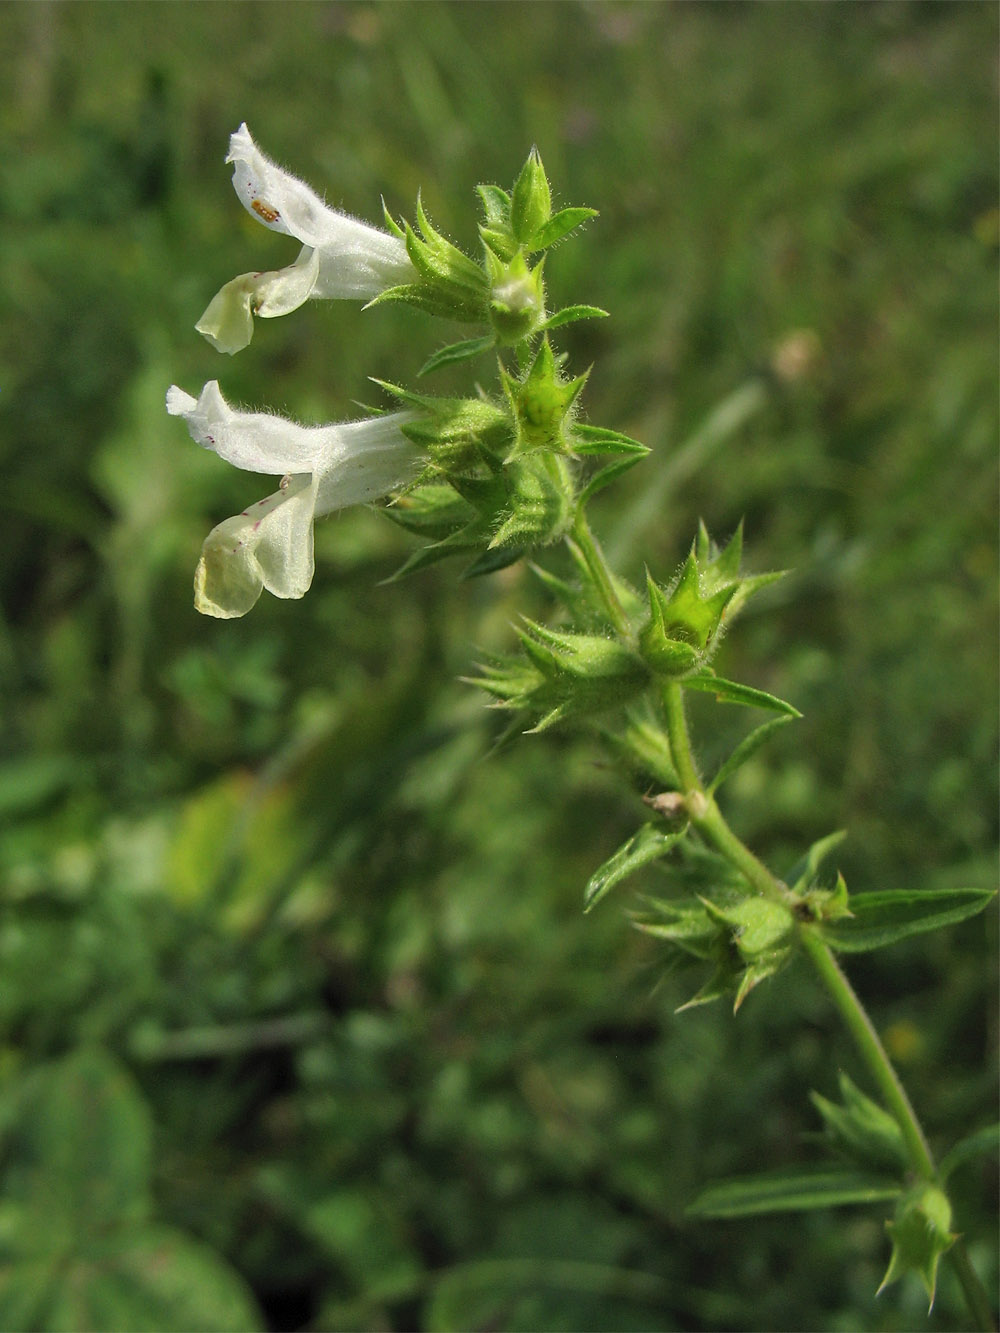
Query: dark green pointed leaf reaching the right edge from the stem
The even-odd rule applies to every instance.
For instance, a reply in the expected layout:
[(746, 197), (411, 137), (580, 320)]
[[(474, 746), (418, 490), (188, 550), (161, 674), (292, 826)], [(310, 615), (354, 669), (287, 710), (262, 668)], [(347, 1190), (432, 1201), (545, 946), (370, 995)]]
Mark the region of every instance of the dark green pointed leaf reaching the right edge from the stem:
[(827, 944), (841, 953), (865, 953), (911, 934), (937, 930), (976, 916), (996, 897), (995, 889), (889, 889), (852, 894), (853, 913), (827, 921)]

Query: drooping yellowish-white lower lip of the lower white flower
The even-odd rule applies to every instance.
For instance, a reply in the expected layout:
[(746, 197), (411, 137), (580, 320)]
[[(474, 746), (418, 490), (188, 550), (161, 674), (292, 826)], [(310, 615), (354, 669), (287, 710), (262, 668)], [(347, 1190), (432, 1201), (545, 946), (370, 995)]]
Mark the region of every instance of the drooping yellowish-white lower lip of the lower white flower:
[(261, 589), (301, 597), (313, 575), (316, 481), (285, 477), (281, 489), (209, 532), (195, 571), (195, 608), (204, 616), (245, 616)]

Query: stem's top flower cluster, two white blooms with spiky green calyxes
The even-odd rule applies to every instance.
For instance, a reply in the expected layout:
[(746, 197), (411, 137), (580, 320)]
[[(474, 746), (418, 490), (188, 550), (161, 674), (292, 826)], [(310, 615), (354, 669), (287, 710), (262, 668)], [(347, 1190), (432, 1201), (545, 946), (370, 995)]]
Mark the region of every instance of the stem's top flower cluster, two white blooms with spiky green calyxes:
[[(195, 576), (196, 608), (229, 619), (245, 615), (263, 589), (301, 597), (313, 576), (313, 520), (387, 495), (400, 501), (388, 511), (392, 517), (431, 539), (407, 568), (475, 551), (485, 571), (561, 536), (576, 491), (556, 455), (600, 449), (572, 431), (585, 376), (563, 381), (545, 329), (604, 312), (572, 307), (548, 316), (535, 256), (593, 209), (553, 215), (532, 152), (511, 193), (480, 187), (485, 221), (476, 263), (435, 229), (419, 201), (416, 227), (387, 215), (385, 229), (328, 208), (261, 153), (245, 124), (231, 136), (225, 160), (247, 212), (301, 248), (287, 268), (241, 273), (212, 299), (196, 328), (220, 352), (249, 344), (255, 316), (288, 315), (308, 300), (403, 301), (483, 325), (481, 335), (437, 352), (425, 369), (536, 335), (541, 344), (523, 376), (503, 372), (505, 397), (496, 403), (433, 399), (387, 384), (401, 411), (324, 427), (236, 411), (215, 380), (197, 399), (171, 385), (167, 411), (187, 421), (197, 444), (237, 468), (281, 477), (273, 495), (209, 533)], [(496, 548), (500, 555), (491, 553)]]

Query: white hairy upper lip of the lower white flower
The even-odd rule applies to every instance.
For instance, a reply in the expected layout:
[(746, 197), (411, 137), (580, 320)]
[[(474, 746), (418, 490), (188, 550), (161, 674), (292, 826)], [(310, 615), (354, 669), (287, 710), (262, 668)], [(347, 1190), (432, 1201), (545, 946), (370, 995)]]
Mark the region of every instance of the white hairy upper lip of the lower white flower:
[(172, 384), (167, 411), (188, 424), (191, 439), (244, 472), (313, 472), (336, 445), (339, 427), (305, 427), (267, 412), (236, 412), (209, 380), (195, 401)]

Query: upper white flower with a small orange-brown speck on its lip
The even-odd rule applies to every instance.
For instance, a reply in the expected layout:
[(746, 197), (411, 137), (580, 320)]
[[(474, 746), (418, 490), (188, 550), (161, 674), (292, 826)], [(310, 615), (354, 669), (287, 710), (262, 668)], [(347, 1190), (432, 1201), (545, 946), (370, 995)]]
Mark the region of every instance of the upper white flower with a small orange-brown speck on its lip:
[(275, 165), (243, 124), (229, 139), (240, 203), (272, 232), (303, 243), (288, 268), (243, 273), (215, 296), (195, 325), (220, 352), (239, 352), (253, 336), (253, 316), (273, 319), (309, 297), (369, 301), (389, 287), (412, 283), (416, 269), (397, 236), (327, 208), (319, 195)]

